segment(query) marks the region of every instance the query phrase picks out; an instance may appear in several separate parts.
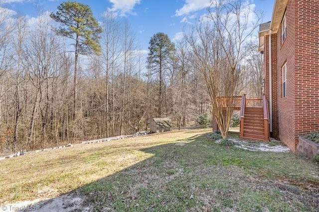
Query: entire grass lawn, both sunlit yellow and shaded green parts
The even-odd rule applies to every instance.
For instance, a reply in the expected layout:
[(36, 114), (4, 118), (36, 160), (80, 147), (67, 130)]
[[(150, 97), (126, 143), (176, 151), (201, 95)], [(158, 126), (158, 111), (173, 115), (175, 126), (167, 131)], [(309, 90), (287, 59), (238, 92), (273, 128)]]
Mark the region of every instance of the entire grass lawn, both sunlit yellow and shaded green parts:
[(78, 145), (0, 161), (0, 205), (61, 194), (92, 211), (309, 211), (319, 166), (292, 153), (226, 148), (209, 130)]

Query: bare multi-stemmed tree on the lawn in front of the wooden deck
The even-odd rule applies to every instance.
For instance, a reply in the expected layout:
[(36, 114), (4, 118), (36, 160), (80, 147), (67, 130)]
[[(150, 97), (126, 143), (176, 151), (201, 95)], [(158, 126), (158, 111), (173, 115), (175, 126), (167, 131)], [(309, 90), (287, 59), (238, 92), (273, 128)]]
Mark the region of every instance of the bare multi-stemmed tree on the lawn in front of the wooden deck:
[(206, 82), (212, 112), (223, 138), (228, 136), (234, 97), (243, 86), (245, 46), (259, 20), (247, 2), (213, 0), (208, 14), (187, 35), (194, 51), (194, 64)]

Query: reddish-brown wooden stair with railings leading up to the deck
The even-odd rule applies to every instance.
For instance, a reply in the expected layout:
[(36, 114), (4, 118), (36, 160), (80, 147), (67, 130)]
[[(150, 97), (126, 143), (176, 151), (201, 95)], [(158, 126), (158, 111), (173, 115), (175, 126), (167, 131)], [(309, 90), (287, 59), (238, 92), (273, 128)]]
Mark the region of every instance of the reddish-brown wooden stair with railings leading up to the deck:
[(250, 140), (269, 141), (268, 105), (263, 96), (262, 107), (246, 105), (246, 97), (242, 97), (240, 111), (240, 138)]

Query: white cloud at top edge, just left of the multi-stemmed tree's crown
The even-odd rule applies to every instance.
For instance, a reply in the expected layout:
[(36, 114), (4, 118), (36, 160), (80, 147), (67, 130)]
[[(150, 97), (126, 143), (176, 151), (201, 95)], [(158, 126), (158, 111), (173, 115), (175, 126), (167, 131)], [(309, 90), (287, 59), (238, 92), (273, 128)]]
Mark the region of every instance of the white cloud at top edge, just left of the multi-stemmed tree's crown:
[(204, 9), (210, 5), (210, 0), (186, 0), (185, 4), (177, 9), (175, 12), (176, 16), (181, 16)]

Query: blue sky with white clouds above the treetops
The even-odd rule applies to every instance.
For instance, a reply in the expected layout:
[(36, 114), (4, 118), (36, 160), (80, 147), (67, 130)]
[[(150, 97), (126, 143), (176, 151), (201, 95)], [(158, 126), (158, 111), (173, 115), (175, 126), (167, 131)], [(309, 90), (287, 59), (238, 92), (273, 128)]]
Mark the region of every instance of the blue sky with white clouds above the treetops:
[[(0, 6), (28, 17), (37, 17), (39, 10), (55, 11), (63, 0), (0, 0)], [(141, 49), (147, 49), (150, 38), (164, 32), (174, 40), (184, 24), (191, 24), (205, 11), (209, 0), (77, 0), (88, 4), (99, 20), (106, 10), (117, 13), (118, 18), (128, 18), (137, 34)], [(245, 0), (243, 0), (245, 1)], [(271, 19), (274, 0), (247, 0), (256, 10), (264, 12), (263, 21)]]

